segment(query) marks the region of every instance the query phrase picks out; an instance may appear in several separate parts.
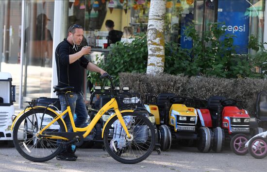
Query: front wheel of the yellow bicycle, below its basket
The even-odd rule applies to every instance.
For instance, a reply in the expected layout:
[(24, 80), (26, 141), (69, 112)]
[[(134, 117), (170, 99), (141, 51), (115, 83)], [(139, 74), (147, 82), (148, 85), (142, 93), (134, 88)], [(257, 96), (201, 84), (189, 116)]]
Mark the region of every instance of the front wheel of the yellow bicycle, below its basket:
[(131, 138), (128, 138), (117, 117), (104, 130), (104, 145), (115, 160), (135, 164), (146, 159), (155, 146), (155, 127), (143, 114), (123, 113), (123, 120)]

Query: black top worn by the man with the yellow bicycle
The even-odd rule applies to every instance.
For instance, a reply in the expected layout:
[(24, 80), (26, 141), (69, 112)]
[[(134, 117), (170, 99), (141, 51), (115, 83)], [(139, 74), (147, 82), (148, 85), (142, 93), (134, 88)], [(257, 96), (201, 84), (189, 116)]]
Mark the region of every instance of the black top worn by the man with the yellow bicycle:
[[(82, 56), (72, 64), (69, 64), (69, 55), (76, 53), (67, 39), (65, 38), (58, 44), (55, 51), (58, 86), (74, 86), (73, 91), (81, 91), (83, 83), (83, 68), (86, 69), (89, 61)], [(81, 47), (78, 47), (79, 52)], [(82, 68), (83, 67), (83, 68)]]

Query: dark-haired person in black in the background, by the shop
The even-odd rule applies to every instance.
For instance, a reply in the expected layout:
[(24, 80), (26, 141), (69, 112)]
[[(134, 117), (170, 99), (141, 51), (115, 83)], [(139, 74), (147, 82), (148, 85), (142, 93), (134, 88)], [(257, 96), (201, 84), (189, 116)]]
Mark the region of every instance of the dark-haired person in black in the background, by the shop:
[(116, 42), (120, 41), (123, 33), (121, 31), (114, 30), (114, 22), (112, 20), (106, 20), (105, 25), (106, 29), (108, 30), (108, 46), (110, 46), (110, 44), (115, 44)]

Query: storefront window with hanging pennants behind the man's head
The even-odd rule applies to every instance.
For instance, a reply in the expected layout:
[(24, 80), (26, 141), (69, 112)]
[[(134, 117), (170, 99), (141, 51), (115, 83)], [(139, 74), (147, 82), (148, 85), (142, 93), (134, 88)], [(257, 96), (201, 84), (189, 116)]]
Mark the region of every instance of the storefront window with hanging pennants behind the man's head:
[(74, 23), (84, 29), (84, 45), (107, 48), (106, 20), (114, 22), (114, 30), (129, 27), (132, 0), (69, 0), (68, 27)]

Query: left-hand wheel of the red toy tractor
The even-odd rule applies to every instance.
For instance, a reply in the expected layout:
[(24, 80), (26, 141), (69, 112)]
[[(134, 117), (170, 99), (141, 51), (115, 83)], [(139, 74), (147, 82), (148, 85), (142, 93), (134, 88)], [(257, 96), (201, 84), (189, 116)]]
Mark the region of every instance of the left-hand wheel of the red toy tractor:
[(224, 149), (224, 131), (221, 127), (216, 127), (213, 129), (213, 145), (212, 150), (214, 152), (221, 152)]

